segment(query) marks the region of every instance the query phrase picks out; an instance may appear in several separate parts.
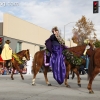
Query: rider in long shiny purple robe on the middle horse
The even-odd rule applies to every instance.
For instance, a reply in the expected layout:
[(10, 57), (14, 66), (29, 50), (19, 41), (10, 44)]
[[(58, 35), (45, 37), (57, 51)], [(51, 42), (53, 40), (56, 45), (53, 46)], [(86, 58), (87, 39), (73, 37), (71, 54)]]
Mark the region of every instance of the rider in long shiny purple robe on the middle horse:
[[(62, 84), (65, 79), (66, 66), (64, 62), (64, 55), (62, 54), (64, 46), (64, 40), (59, 36), (59, 30), (57, 27), (52, 29), (52, 35), (46, 40), (46, 47), (51, 52), (50, 67), (53, 71), (54, 79)], [(60, 37), (60, 38), (59, 38)]]

